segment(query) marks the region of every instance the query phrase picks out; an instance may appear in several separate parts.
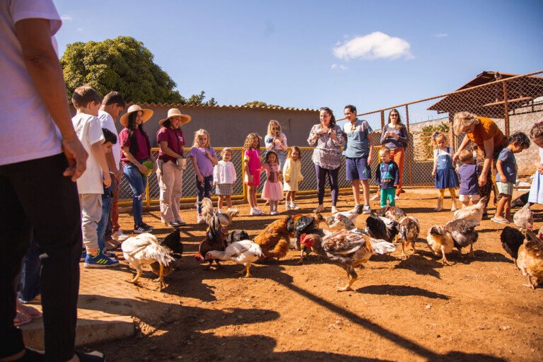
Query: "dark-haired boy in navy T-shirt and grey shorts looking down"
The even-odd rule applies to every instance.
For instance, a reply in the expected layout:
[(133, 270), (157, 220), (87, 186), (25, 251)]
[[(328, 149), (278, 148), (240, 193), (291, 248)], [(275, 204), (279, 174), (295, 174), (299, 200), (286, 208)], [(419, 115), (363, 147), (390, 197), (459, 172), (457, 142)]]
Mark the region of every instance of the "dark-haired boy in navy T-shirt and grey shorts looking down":
[(501, 150), (496, 161), (496, 186), (501, 199), (496, 206), (496, 214), (491, 218), (495, 223), (510, 223), (511, 221), (511, 197), (513, 196), (513, 184), (517, 182), (517, 162), (515, 153), (519, 153), (530, 147), (530, 139), (522, 132), (515, 132), (508, 139), (508, 145)]

